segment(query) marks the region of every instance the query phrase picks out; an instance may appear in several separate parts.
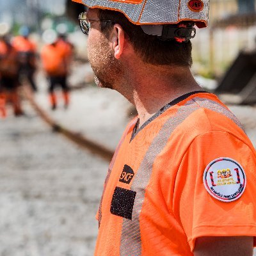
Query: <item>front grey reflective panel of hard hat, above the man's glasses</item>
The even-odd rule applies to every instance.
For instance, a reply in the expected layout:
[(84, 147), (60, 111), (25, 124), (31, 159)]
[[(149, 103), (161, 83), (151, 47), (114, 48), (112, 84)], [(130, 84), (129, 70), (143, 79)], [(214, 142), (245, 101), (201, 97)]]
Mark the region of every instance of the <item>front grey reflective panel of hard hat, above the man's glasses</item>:
[(109, 0), (83, 0), (83, 3), (88, 7), (100, 6), (102, 8), (119, 10), (124, 13), (127, 18), (131, 19), (132, 22), (136, 23), (140, 18), (145, 0), (143, 0), (141, 4), (120, 3)]

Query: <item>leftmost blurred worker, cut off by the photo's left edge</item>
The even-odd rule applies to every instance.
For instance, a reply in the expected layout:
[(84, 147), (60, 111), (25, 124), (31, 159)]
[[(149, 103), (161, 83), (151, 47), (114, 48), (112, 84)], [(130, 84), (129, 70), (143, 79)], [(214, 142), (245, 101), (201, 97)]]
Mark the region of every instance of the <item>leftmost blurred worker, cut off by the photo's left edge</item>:
[(18, 93), (18, 55), (8, 38), (9, 26), (0, 27), (0, 115), (6, 116), (5, 103), (10, 101), (15, 116), (22, 115)]

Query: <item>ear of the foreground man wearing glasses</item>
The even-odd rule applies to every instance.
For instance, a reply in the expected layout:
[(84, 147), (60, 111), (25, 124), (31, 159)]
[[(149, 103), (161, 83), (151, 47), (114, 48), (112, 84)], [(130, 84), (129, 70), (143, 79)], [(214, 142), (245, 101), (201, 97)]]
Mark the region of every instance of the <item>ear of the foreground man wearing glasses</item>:
[(119, 24), (115, 24), (113, 26), (113, 33), (111, 35), (110, 42), (112, 43), (115, 58), (119, 59), (124, 51), (125, 45), (124, 29)]

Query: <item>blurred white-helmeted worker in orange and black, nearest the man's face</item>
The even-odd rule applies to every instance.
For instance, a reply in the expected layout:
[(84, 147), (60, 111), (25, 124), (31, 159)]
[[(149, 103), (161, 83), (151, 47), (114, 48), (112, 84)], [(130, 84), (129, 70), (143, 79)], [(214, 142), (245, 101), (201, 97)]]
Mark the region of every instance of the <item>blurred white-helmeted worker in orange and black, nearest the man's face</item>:
[(49, 98), (52, 110), (57, 107), (57, 98), (54, 92), (60, 85), (63, 92), (64, 106), (69, 104), (69, 88), (67, 85), (68, 67), (72, 49), (58, 40), (55, 31), (49, 29), (44, 32), (43, 39), (47, 43), (41, 52), (44, 70), (49, 77)]

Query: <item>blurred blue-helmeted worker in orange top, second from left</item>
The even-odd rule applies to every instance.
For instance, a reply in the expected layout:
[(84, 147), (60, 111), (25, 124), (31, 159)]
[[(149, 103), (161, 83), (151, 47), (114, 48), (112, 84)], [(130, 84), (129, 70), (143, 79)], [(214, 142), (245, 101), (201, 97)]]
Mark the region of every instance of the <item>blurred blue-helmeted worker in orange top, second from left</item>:
[(34, 92), (37, 87), (34, 81), (36, 70), (36, 45), (29, 40), (29, 28), (22, 26), (19, 30), (19, 36), (13, 38), (12, 45), (19, 54), (19, 81), (26, 77)]

